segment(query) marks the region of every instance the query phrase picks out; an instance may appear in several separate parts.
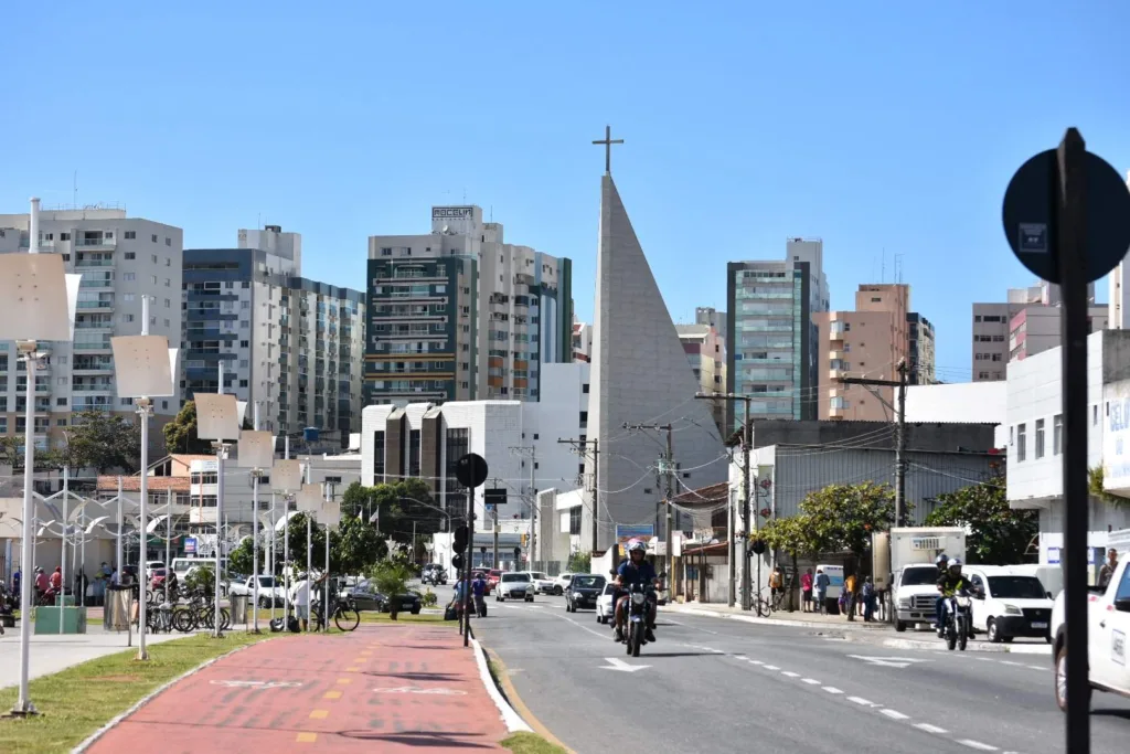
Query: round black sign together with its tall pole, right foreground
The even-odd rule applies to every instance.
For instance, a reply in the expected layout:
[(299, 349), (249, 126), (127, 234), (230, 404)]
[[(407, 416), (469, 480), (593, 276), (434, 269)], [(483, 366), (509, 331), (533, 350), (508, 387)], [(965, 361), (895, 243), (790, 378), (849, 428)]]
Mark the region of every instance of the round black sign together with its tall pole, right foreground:
[[(1028, 159), (1005, 192), (1003, 224), (1017, 260), (1060, 286), (1063, 406), (1063, 601), (1067, 751), (1090, 752), (1087, 662), (1087, 285), (1130, 248), (1130, 192), (1109, 163), (1068, 129), (1058, 149)], [(1055, 658), (1057, 673), (1060, 658)]]

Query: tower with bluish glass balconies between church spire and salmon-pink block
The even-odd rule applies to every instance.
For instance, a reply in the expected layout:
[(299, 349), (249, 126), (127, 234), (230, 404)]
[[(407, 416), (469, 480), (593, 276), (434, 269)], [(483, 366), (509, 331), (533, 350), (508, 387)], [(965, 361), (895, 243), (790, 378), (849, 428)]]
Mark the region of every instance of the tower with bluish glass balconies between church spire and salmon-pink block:
[[(816, 418), (822, 381), (812, 318), (829, 304), (824, 242), (790, 239), (783, 261), (730, 262), (727, 302), (725, 391), (755, 396), (751, 418)], [(729, 415), (729, 426), (741, 424), (734, 406)]]

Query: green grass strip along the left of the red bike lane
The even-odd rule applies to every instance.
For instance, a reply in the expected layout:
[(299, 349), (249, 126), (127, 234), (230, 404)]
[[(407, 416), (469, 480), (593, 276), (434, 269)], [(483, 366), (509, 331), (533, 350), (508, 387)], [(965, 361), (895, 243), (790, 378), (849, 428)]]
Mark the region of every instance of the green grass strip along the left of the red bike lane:
[[(149, 659), (137, 649), (107, 655), (31, 683), (40, 714), (0, 719), (0, 752), (62, 754), (110, 722), (147, 694), (201, 662), (272, 635), (233, 631), (224, 639), (198, 634), (149, 645)], [(10, 710), (18, 688), (0, 690), (0, 710)]]

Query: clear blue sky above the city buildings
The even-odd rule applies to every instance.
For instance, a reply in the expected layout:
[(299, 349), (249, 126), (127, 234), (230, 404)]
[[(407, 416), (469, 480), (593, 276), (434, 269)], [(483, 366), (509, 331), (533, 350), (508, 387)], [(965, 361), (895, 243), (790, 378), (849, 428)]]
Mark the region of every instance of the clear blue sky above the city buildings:
[(1033, 283), (1000, 227), (1016, 167), (1068, 125), (1130, 167), (1125, 0), (169, 5), (6, 9), (0, 211), (70, 202), (78, 171), (80, 203), (186, 246), (279, 224), (308, 277), (364, 288), (368, 235), (466, 191), (573, 258), (590, 318), (608, 122), (677, 320), (725, 305), (728, 260), (819, 236), (833, 307), (902, 254), (960, 380), (970, 304)]

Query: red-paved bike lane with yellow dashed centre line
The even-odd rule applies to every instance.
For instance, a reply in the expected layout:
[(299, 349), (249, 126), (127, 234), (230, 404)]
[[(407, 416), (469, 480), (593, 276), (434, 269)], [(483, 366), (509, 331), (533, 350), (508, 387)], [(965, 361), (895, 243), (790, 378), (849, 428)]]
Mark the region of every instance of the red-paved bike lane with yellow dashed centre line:
[(362, 625), (234, 652), (158, 694), (87, 752), (501, 752), (506, 735), (458, 631)]

